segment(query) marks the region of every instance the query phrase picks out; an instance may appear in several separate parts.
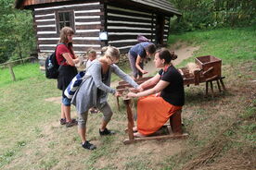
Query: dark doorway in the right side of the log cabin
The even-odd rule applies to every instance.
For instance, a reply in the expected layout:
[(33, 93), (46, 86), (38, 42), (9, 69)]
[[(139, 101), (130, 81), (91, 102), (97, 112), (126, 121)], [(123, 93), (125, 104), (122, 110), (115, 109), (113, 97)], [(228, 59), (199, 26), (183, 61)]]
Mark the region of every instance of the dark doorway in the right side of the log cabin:
[(156, 22), (156, 45), (157, 46), (160, 46), (163, 43), (163, 25), (164, 25), (163, 16), (158, 14), (157, 22)]

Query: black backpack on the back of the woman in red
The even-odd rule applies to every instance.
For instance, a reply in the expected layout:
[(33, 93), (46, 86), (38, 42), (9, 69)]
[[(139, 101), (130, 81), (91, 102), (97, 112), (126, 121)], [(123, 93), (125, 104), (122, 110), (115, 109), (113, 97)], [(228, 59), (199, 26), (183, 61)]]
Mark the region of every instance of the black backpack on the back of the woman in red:
[[(59, 44), (63, 44), (63, 43), (59, 43)], [(56, 49), (58, 45), (56, 46)], [(47, 79), (58, 79), (59, 65), (56, 59), (56, 49), (55, 49), (55, 52), (52, 55), (47, 56), (45, 60), (45, 77)]]

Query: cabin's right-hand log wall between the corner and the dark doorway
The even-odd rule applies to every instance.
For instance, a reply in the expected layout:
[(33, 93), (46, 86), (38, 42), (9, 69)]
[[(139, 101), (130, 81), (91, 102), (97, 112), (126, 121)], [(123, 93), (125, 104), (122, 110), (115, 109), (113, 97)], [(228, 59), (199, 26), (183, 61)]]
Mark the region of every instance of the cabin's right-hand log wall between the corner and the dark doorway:
[(156, 15), (120, 6), (108, 5), (106, 10), (109, 45), (116, 46), (121, 53), (127, 53), (137, 43), (137, 35), (155, 41)]

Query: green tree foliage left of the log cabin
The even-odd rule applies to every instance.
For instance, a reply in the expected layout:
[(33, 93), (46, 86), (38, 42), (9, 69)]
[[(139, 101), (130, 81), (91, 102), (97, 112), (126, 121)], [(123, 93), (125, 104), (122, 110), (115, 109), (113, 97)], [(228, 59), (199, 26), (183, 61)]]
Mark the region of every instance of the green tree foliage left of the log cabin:
[(35, 49), (32, 14), (14, 8), (14, 0), (0, 0), (0, 63), (28, 57)]

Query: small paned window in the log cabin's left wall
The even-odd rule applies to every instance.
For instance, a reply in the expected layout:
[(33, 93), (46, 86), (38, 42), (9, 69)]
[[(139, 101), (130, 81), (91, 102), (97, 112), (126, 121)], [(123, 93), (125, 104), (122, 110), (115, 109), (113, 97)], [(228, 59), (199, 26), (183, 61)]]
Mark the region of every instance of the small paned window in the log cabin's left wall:
[(58, 32), (65, 26), (74, 30), (73, 11), (58, 11), (56, 17)]

